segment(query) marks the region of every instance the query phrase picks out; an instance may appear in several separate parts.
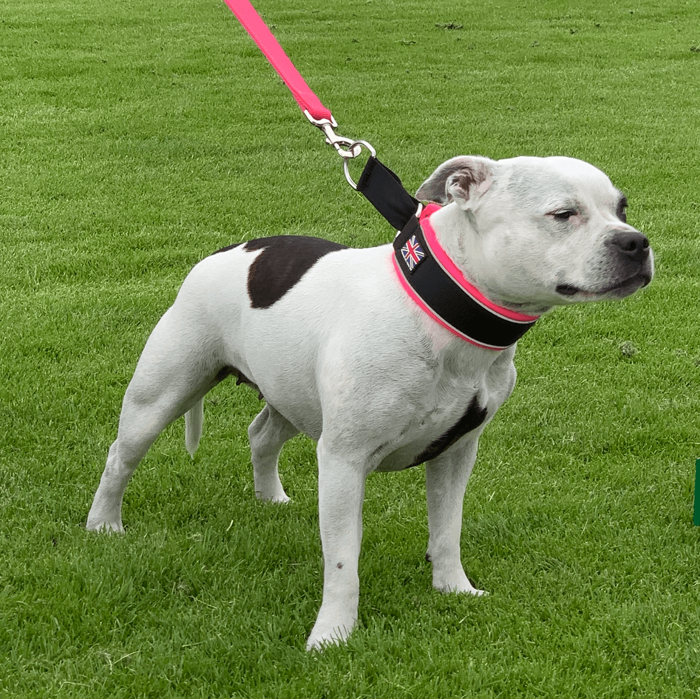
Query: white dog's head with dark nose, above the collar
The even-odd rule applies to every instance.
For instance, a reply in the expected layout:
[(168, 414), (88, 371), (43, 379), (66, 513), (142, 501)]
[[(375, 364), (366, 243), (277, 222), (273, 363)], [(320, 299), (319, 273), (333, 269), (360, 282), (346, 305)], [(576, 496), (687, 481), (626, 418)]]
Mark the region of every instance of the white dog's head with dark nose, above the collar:
[(620, 299), (647, 285), (654, 257), (626, 223), (626, 197), (596, 167), (568, 157), (444, 162), (416, 197), (465, 276), (524, 311)]

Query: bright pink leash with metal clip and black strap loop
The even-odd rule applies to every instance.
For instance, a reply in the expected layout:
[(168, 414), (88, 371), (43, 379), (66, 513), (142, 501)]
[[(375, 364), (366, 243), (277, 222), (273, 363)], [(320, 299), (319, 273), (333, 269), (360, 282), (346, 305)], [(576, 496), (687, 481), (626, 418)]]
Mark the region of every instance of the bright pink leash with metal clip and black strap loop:
[[(335, 133), (334, 129), (337, 129), (338, 125), (330, 109), (323, 106), (321, 100), (307, 85), (251, 3), (248, 0), (224, 0), (224, 2), (282, 78), (304, 116), (311, 124), (321, 129), (325, 135), (325, 142), (335, 148), (338, 155), (342, 157), (345, 179), (351, 188), (364, 195), (396, 230), (401, 230), (418, 211), (420, 206), (418, 199), (409, 195), (397, 174), (379, 162), (377, 151), (370, 143), (361, 139), (349, 139)], [(358, 157), (363, 148), (367, 149), (370, 157), (358, 181), (353, 182), (348, 163)]]

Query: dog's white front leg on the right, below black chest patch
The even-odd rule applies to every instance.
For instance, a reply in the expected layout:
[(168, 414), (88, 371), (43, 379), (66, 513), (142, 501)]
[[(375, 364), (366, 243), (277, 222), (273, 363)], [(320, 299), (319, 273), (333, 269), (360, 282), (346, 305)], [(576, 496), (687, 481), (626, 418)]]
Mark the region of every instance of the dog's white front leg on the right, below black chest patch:
[(428, 553), (433, 563), (433, 587), (442, 592), (484, 594), (470, 583), (462, 567), (459, 540), (467, 481), (477, 456), (478, 437), (465, 436), (426, 463)]

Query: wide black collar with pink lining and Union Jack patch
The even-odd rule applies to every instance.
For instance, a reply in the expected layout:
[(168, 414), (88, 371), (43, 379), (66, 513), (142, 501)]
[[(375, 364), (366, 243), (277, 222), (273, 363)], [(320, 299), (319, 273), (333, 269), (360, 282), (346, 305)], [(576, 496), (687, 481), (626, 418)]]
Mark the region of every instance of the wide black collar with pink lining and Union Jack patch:
[(464, 278), (430, 224), (438, 209), (438, 204), (419, 208), (394, 239), (393, 264), (402, 287), (430, 318), (472, 345), (491, 350), (514, 345), (539, 316), (498, 306)]

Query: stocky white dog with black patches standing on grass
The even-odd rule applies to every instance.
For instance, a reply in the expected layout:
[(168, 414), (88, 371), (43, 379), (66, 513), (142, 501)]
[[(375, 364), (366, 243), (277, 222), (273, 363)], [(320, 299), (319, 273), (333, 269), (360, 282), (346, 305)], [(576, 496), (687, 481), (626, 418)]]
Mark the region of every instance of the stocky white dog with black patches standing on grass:
[[(442, 205), (421, 218), (439, 266), (514, 326), (553, 306), (622, 299), (652, 279), (652, 250), (626, 223), (626, 198), (586, 162), (459, 156), (416, 197)], [(421, 264), (425, 250), (412, 250), (407, 261)], [(248, 429), (260, 500), (288, 501), (283, 444), (299, 432), (318, 442), (323, 600), (307, 649), (344, 641), (356, 624), (372, 471), (425, 463), (433, 586), (481, 595), (461, 563), (462, 504), (479, 435), (514, 387), (515, 344), (491, 346), (443, 322), (397, 260), (391, 245), (273, 236), (197, 264), (126, 390), (87, 529), (123, 531), (125, 488), (155, 438), (185, 414), (194, 453), (204, 395), (233, 375), (265, 397)]]

